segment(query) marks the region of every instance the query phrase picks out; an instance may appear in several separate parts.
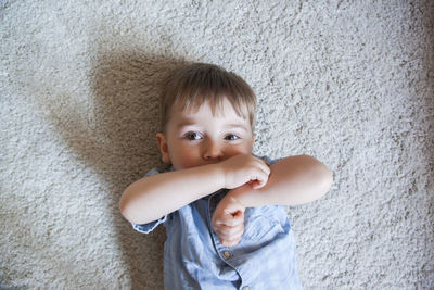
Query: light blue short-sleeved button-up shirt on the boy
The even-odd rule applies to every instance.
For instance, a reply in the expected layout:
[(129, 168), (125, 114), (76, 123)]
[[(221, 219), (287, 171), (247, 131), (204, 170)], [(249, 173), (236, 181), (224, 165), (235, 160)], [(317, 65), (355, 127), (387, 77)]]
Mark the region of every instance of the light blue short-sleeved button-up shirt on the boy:
[[(154, 168), (148, 176), (158, 173)], [(165, 288), (302, 289), (294, 236), (283, 206), (247, 207), (239, 244), (220, 243), (210, 219), (227, 192), (221, 189), (153, 223), (132, 224), (143, 234), (159, 224), (166, 227)]]

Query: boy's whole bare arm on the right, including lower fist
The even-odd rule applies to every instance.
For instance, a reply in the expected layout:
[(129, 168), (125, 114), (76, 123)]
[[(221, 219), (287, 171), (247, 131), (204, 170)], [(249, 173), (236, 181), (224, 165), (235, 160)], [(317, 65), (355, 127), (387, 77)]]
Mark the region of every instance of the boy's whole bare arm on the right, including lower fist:
[(212, 226), (224, 245), (239, 243), (244, 231), (245, 207), (310, 202), (326, 194), (333, 181), (329, 168), (307, 155), (280, 160), (270, 169), (268, 181), (260, 189), (246, 184), (229, 191), (218, 203)]

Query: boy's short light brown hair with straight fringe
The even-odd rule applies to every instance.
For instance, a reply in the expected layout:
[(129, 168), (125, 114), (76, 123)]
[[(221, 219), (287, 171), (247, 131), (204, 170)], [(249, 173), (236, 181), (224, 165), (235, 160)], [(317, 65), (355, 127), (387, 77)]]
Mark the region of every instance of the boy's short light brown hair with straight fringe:
[(227, 99), (239, 116), (255, 123), (256, 96), (248, 84), (232, 72), (206, 63), (194, 63), (174, 70), (162, 84), (161, 125), (166, 129), (173, 108), (197, 110), (209, 102), (212, 112)]

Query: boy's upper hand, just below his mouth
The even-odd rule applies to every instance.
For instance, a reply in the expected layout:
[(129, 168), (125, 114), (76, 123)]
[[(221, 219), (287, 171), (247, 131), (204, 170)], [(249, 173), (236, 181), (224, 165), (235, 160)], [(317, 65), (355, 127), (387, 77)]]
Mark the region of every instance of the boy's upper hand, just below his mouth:
[(232, 189), (244, 184), (251, 184), (258, 189), (267, 184), (270, 168), (265, 161), (252, 154), (239, 154), (218, 163), (224, 175), (224, 187)]

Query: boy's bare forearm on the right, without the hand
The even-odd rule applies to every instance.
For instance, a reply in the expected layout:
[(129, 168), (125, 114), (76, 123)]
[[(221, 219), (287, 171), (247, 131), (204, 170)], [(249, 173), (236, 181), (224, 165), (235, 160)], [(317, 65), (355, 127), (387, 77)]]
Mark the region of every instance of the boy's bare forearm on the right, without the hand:
[(329, 168), (307, 155), (291, 156), (270, 166), (267, 185), (253, 189), (250, 185), (232, 189), (229, 194), (245, 207), (261, 205), (297, 205), (321, 198), (333, 181)]

